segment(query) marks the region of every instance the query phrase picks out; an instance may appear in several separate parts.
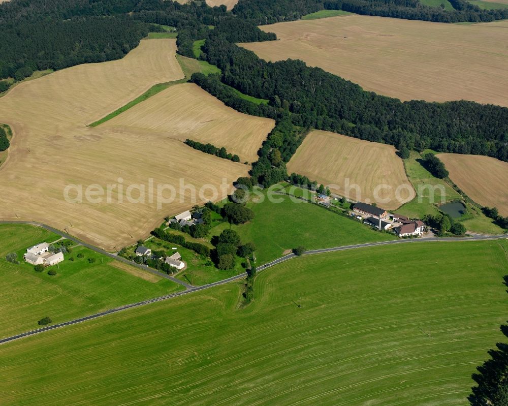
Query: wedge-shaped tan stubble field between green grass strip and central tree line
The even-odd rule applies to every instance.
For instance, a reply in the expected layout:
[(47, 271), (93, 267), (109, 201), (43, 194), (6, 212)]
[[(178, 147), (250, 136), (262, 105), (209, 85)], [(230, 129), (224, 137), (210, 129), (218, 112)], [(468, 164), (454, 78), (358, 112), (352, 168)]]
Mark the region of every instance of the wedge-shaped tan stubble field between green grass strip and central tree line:
[(139, 136), (190, 138), (225, 147), (253, 162), (275, 121), (239, 113), (194, 83), (182, 83), (106, 121), (101, 127)]

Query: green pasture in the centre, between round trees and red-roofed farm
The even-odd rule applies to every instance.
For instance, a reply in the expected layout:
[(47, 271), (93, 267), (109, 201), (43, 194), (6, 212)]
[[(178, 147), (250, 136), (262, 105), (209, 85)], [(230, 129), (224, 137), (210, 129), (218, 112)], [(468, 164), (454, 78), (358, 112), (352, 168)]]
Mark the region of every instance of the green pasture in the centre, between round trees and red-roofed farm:
[[(266, 195), (265, 195), (266, 197)], [(393, 234), (379, 233), (353, 218), (336, 214), (324, 207), (288, 196), (275, 196), (279, 203), (265, 199), (262, 203), (248, 203), (255, 217), (250, 223), (232, 226), (243, 242), (256, 244), (258, 265), (273, 261), (285, 251), (303, 245), (307, 249), (350, 245), (370, 241), (396, 239)], [(211, 230), (220, 234), (228, 223)]]

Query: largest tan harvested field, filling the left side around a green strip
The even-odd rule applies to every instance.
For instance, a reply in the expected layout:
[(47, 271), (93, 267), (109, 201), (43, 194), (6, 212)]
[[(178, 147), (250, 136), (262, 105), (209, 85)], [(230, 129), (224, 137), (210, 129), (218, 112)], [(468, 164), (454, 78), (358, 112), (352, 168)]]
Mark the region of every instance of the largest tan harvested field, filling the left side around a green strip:
[[(180, 178), (200, 188), (228, 184), (247, 167), (187, 147), (169, 137), (87, 128), (155, 83), (183, 78), (175, 40), (142, 41), (121, 60), (80, 65), (22, 83), (0, 99), (0, 122), (14, 131), (9, 158), (0, 169), (0, 217), (40, 221), (106, 249), (146, 236), (162, 218), (191, 205)], [(120, 180), (119, 180), (120, 178)], [(157, 208), (157, 184), (176, 188), (177, 199)], [(82, 185), (83, 203), (74, 203)], [(86, 188), (97, 184), (110, 199)], [(145, 188), (140, 194), (139, 188)], [(119, 191), (119, 186), (123, 185)], [(129, 186), (131, 187), (129, 188)], [(94, 195), (93, 192), (96, 194)], [(198, 200), (218, 199), (208, 191)], [(144, 200), (139, 198), (142, 195)], [(170, 191), (162, 192), (164, 198)], [(99, 200), (102, 200), (99, 202)], [(108, 200), (110, 202), (108, 202)], [(132, 236), (132, 237), (131, 237)]]

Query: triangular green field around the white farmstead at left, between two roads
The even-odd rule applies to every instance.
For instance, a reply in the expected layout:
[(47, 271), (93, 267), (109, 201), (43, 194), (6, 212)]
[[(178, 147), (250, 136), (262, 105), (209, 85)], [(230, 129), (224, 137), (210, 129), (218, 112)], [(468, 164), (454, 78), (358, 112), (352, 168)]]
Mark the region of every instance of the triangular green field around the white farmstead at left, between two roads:
[[(54, 323), (181, 290), (171, 280), (119, 263), (79, 246), (66, 260), (51, 267), (57, 275), (36, 272), (23, 261), (30, 245), (52, 242), (59, 236), (33, 226), (0, 225), (0, 256), (17, 252), (20, 264), (0, 259), (0, 337), (35, 330), (49, 316)], [(77, 258), (83, 253), (85, 258)], [(70, 261), (69, 257), (75, 261)], [(96, 262), (89, 263), (88, 258)]]

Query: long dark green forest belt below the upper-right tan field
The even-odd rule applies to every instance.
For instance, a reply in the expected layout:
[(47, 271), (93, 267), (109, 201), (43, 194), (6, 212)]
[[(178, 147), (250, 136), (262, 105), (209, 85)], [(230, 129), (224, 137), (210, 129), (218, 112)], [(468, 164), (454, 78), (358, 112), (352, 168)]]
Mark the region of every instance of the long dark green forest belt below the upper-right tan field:
[(507, 108), (467, 101), (401, 102), (300, 60), (266, 62), (222, 38), (207, 40), (205, 48), (208, 62), (223, 71), (223, 82), (270, 100), (275, 109), (280, 104), (295, 126), (419, 151), (432, 148), (508, 161)]

